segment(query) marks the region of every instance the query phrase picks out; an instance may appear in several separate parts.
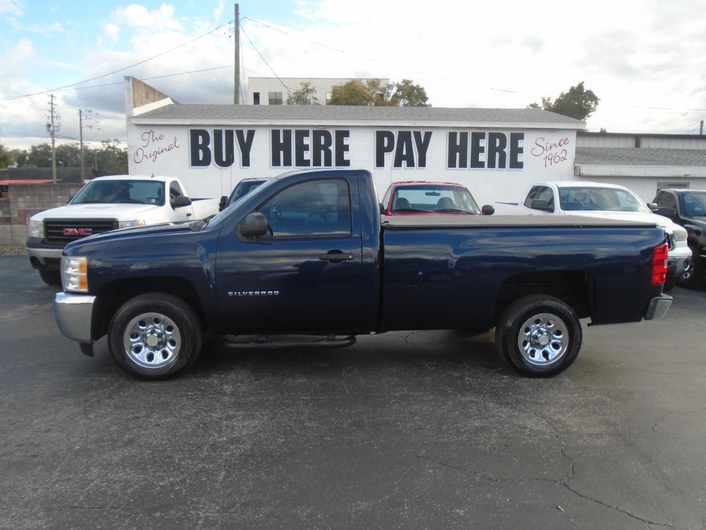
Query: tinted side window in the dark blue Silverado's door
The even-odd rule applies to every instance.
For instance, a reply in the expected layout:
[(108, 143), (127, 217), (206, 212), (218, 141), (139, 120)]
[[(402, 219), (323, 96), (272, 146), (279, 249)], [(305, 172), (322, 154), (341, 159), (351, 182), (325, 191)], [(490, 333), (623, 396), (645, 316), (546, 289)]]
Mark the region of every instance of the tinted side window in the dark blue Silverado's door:
[(265, 215), (275, 237), (351, 233), (350, 192), (343, 179), (294, 184), (270, 197), (256, 211)]

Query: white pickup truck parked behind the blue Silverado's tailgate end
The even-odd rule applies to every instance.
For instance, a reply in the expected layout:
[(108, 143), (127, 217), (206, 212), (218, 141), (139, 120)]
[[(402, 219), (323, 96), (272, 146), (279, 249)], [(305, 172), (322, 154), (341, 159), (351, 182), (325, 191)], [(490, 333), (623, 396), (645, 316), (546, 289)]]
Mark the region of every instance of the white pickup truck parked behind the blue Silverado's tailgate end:
[[(692, 252), (686, 241), (686, 230), (671, 219), (657, 215), (656, 204), (651, 211), (626, 187), (605, 182), (539, 182), (532, 184), (525, 201), (516, 206), (521, 213), (530, 216), (585, 216), (657, 223), (664, 228), (669, 243), (664, 290), (674, 288), (677, 278), (690, 268)], [(517, 208), (515, 214), (520, 213)]]

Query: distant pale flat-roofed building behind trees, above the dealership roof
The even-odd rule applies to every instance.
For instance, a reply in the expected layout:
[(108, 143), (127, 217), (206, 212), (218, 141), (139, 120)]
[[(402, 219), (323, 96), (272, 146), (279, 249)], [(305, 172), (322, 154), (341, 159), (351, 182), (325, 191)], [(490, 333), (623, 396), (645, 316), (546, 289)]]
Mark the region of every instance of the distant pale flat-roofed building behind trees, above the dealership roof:
[[(331, 98), (331, 89), (335, 85), (342, 85), (353, 78), (331, 77), (249, 77), (248, 78), (248, 105), (287, 105), (287, 97), (294, 90), (301, 88), (301, 83), (311, 83), (316, 89), (316, 100), (320, 105), (326, 105)], [(373, 81), (371, 78), (355, 78), (365, 84)], [(381, 85), (390, 83), (389, 79), (380, 79)]]

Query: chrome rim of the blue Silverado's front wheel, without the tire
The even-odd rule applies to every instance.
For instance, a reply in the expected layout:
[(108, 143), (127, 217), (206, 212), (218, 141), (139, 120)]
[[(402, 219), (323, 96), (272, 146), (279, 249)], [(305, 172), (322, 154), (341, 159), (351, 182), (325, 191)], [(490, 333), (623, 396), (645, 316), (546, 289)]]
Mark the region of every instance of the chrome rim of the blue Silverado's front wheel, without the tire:
[(123, 348), (136, 365), (161, 368), (179, 355), (181, 333), (177, 324), (164, 314), (138, 314), (125, 326)]

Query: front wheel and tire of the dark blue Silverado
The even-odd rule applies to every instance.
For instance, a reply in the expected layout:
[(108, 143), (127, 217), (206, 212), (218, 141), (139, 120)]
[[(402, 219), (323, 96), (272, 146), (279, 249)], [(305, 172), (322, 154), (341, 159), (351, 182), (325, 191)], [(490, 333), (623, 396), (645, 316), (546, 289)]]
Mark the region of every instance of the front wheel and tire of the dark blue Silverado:
[[(126, 334), (128, 326), (132, 335)], [(167, 293), (145, 293), (128, 300), (113, 315), (108, 328), (113, 359), (128, 374), (141, 379), (164, 379), (186, 370), (201, 353), (202, 340), (196, 312), (181, 298)], [(131, 353), (124, 341), (131, 344)]]

